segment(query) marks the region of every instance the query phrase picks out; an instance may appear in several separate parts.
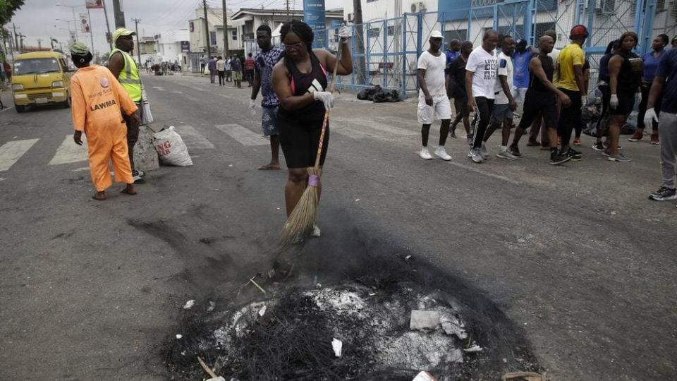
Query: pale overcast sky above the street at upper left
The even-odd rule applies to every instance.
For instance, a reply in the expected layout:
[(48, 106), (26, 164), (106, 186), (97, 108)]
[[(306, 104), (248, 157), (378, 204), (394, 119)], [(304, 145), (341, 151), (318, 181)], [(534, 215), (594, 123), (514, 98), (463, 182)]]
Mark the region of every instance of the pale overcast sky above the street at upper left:
[[(122, 0), (121, 0), (122, 1)], [(325, 0), (326, 8), (339, 8), (344, 0)], [(75, 18), (78, 13), (85, 13), (85, 0), (27, 0), (25, 6), (17, 11), (12, 22), (16, 24), (17, 32), (26, 36), (24, 44), (37, 47), (37, 39), (42, 39), (42, 46), (49, 45), (49, 37), (68, 45), (68, 23), (61, 20), (73, 20), (73, 11), (66, 6), (76, 6)], [(198, 0), (126, 0), (123, 1), (127, 28), (133, 29), (132, 18), (140, 18), (139, 32), (143, 36), (157, 35), (169, 30), (188, 28), (188, 19), (195, 15), (195, 8), (202, 6)], [(214, 8), (221, 8), (221, 0), (207, 0), (207, 4)], [(285, 0), (226, 0), (228, 8), (237, 11), (239, 8), (283, 8)], [(295, 8), (303, 7), (303, 0), (291, 0)], [(115, 29), (113, 18), (113, 1), (106, 0), (111, 32)], [(109, 50), (106, 43), (106, 20), (103, 9), (91, 9), (91, 26), (94, 32), (94, 49), (99, 52)], [(79, 20), (79, 18), (78, 18)], [(79, 22), (79, 21), (78, 21)], [(73, 29), (74, 23), (70, 23)], [(78, 25), (79, 28), (80, 25)], [(8, 25), (12, 28), (11, 23)], [(90, 35), (80, 33), (78, 40), (91, 44)]]

